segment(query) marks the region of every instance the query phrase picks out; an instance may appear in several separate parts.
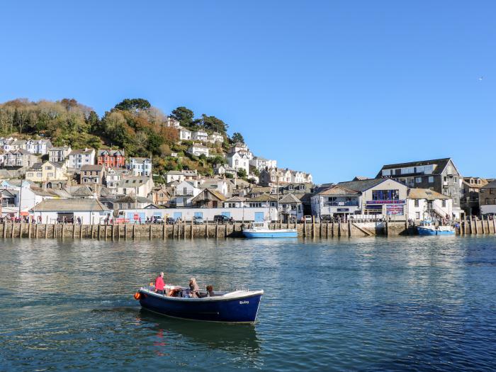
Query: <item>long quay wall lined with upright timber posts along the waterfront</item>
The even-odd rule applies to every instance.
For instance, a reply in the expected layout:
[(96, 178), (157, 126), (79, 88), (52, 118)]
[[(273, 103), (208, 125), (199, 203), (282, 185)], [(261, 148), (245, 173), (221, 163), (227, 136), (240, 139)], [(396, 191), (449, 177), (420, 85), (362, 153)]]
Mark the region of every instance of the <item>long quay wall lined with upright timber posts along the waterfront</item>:
[[(74, 238), (74, 239), (192, 239), (242, 237), (247, 227), (236, 222), (227, 225), (72, 225), (0, 223), (0, 237)], [(416, 235), (415, 227), (404, 221), (391, 222), (322, 222), (322, 223), (271, 223), (274, 228), (296, 228), (300, 237), (367, 237)], [(457, 229), (460, 235), (496, 234), (496, 220), (463, 220)]]

